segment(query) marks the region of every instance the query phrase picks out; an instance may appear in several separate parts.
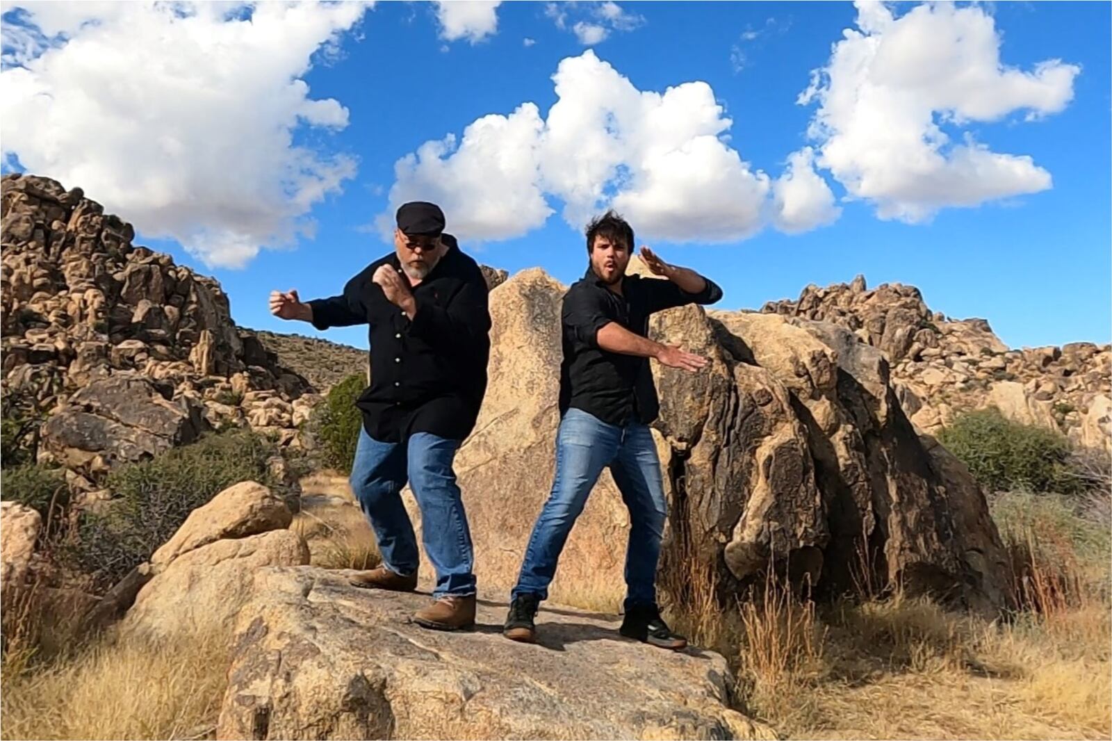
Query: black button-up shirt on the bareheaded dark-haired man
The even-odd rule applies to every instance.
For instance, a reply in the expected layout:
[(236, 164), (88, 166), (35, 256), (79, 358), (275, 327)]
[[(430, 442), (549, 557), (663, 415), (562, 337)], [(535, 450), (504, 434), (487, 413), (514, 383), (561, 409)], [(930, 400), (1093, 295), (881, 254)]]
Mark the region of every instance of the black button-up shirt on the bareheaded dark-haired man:
[(645, 337), (648, 316), (654, 312), (686, 304), (714, 304), (722, 298), (722, 288), (704, 280), (702, 292), (688, 294), (671, 280), (627, 275), (619, 296), (588, 267), (564, 295), (560, 416), (575, 407), (612, 425), (632, 421), (647, 425), (656, 419), (661, 403), (648, 358), (602, 349), (598, 330), (617, 322)]

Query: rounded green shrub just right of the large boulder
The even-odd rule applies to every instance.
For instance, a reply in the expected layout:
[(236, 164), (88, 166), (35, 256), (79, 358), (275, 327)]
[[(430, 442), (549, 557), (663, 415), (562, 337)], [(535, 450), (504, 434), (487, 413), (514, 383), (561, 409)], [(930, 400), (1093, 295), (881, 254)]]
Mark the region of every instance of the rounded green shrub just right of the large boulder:
[(1070, 444), (1062, 435), (1006, 419), (995, 407), (970, 412), (939, 434), (945, 445), (992, 491), (1074, 493)]

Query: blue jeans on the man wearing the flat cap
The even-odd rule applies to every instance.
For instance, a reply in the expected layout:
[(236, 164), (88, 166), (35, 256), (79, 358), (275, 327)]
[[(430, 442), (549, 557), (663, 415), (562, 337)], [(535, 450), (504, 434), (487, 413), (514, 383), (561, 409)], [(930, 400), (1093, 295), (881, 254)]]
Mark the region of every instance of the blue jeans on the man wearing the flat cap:
[(359, 431), (351, 491), (378, 539), (383, 564), (396, 574), (417, 571), (419, 555), (401, 488), (409, 481), (421, 513), (425, 553), (436, 569), (433, 594), (475, 594), (475, 561), (467, 513), (453, 458), (458, 439), (415, 433), (405, 443), (383, 443)]

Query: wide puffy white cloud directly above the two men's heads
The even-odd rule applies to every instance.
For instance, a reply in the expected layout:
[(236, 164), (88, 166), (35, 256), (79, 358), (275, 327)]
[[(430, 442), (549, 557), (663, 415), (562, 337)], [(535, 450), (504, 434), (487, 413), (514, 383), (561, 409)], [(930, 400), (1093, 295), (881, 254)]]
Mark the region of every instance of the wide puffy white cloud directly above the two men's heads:
[[(506, 239), (544, 225), (549, 198), (576, 229), (606, 207), (649, 238), (731, 241), (770, 223), (773, 182), (726, 142), (732, 125), (706, 82), (638, 90), (593, 51), (560, 61), (557, 101), (543, 118), (527, 102), (485, 116), (456, 140), (425, 142), (395, 167), (390, 207), (434, 200), (469, 239)], [(793, 157), (777, 181), (784, 230), (836, 218), (833, 194)], [(393, 210), (379, 226), (389, 230)]]

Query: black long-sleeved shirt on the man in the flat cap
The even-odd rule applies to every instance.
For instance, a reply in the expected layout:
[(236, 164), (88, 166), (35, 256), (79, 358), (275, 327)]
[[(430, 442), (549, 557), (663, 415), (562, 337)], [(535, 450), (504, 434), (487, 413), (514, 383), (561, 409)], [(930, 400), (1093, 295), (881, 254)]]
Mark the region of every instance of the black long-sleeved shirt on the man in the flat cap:
[(475, 427), (487, 385), (490, 312), (478, 264), (444, 235), (448, 251), (415, 288), (410, 319), (371, 280), (394, 253), (348, 280), (340, 296), (309, 302), (318, 329), (369, 324), (370, 386), (356, 402), (367, 434), (398, 443), (427, 432), (464, 439)]

